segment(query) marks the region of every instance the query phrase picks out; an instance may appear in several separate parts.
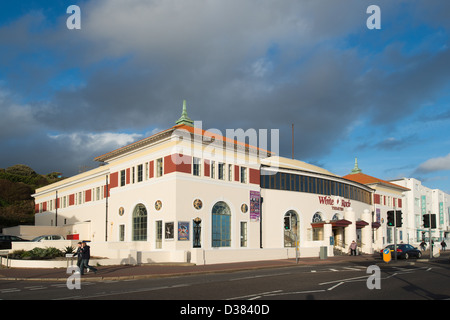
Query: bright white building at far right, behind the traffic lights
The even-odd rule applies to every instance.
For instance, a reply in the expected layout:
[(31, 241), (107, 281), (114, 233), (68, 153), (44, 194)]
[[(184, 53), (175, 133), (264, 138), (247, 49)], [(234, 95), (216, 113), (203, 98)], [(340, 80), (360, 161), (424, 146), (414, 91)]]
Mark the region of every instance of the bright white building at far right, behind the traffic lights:
[(450, 195), (430, 189), (414, 178), (392, 181), (409, 189), (405, 192), (404, 211), (408, 216), (408, 235), (410, 242), (418, 243), (429, 238), (429, 228), (423, 227), (423, 215), (436, 215), (436, 229), (432, 229), (432, 238), (440, 242), (450, 232)]

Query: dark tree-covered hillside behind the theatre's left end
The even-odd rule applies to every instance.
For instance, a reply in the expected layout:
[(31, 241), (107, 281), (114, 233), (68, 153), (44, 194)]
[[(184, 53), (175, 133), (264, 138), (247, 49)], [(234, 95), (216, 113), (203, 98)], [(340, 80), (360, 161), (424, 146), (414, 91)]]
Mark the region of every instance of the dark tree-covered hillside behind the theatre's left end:
[(0, 229), (34, 224), (31, 195), (37, 188), (62, 179), (58, 172), (41, 175), (23, 164), (0, 168)]

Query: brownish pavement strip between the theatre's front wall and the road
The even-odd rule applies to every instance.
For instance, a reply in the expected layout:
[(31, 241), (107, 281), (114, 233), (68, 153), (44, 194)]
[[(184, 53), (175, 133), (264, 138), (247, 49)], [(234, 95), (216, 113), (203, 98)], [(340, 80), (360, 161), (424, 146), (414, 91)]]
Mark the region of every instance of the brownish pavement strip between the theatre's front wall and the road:
[[(390, 263), (408, 264), (414, 262), (450, 263), (450, 251), (441, 252), (440, 257), (429, 259), (426, 253), (421, 259), (398, 260)], [(299, 258), (284, 260), (249, 261), (238, 263), (222, 263), (209, 265), (194, 265), (189, 263), (156, 263), (142, 265), (96, 266), (97, 273), (85, 273), (82, 278), (89, 281), (147, 279), (159, 277), (176, 277), (205, 273), (237, 272), (263, 268), (280, 268), (293, 266), (320, 266), (339, 263), (354, 264), (385, 264), (378, 253), (358, 256), (333, 256), (326, 259)], [(0, 280), (9, 281), (67, 281), (71, 273), (66, 268), (0, 268)]]

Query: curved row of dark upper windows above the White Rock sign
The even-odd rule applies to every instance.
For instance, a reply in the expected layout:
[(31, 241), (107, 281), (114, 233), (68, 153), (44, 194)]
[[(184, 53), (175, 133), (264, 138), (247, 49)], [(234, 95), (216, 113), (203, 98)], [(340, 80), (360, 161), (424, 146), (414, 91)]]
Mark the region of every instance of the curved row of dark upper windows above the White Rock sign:
[(342, 182), (293, 173), (262, 171), (261, 188), (335, 195), (371, 204), (371, 193)]

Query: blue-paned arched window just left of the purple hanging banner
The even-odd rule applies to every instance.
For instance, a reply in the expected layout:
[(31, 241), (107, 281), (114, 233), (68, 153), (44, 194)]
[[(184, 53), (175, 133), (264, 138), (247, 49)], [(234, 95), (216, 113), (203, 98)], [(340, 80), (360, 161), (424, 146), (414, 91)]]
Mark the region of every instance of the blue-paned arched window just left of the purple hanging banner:
[(223, 201), (212, 208), (212, 246), (231, 246), (231, 211)]

